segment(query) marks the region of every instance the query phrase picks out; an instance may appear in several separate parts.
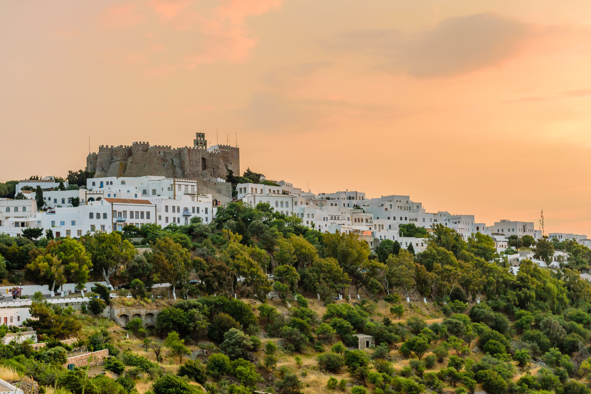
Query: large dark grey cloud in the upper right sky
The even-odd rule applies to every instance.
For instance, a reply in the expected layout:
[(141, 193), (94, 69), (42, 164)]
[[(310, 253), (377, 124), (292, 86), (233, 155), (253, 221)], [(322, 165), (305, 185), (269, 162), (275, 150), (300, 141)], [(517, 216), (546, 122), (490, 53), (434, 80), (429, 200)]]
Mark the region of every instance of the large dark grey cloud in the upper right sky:
[(527, 44), (532, 32), (530, 25), (486, 13), (444, 19), (411, 37), (395, 30), (348, 32), (335, 46), (376, 55), (389, 71), (434, 78), (502, 63)]

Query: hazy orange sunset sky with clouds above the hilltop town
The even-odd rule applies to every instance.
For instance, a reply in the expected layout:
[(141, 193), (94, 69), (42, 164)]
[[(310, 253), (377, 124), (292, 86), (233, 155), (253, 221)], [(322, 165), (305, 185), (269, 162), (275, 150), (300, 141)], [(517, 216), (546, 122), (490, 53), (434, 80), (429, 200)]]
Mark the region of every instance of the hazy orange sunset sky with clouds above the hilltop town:
[(241, 147), (313, 192), (587, 234), (591, 2), (0, 3), (0, 180), (98, 145)]

